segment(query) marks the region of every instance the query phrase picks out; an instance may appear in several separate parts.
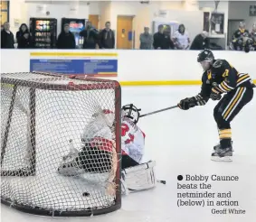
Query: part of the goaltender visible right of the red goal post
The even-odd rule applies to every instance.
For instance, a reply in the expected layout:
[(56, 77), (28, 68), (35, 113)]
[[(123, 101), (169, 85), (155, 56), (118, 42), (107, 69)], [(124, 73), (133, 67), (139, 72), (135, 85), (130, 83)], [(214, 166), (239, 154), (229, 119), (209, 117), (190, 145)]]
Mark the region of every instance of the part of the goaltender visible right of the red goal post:
[(125, 193), (156, 186), (156, 162), (142, 163), (145, 134), (137, 126), (139, 111), (140, 109), (132, 104), (122, 107), (122, 190)]

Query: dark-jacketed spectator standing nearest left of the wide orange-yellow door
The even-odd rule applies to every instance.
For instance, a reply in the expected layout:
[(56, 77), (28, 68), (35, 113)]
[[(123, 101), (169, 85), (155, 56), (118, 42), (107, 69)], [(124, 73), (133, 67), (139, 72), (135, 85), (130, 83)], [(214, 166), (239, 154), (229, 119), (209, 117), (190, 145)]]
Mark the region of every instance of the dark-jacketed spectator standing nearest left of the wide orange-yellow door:
[(99, 44), (100, 49), (115, 48), (115, 34), (110, 29), (110, 22), (105, 23), (105, 29), (100, 32)]

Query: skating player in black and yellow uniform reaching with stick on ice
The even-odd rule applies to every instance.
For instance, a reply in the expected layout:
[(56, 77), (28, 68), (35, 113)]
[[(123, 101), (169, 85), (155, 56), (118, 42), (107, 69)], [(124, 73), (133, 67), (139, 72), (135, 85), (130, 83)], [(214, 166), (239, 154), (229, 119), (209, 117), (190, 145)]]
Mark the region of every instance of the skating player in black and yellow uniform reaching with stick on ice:
[(249, 74), (240, 73), (227, 60), (215, 60), (210, 50), (201, 51), (197, 61), (204, 69), (201, 92), (182, 99), (178, 106), (187, 110), (204, 106), (209, 98), (220, 100), (213, 110), (220, 143), (214, 146), (213, 161), (232, 161), (232, 119), (251, 101), (255, 87)]

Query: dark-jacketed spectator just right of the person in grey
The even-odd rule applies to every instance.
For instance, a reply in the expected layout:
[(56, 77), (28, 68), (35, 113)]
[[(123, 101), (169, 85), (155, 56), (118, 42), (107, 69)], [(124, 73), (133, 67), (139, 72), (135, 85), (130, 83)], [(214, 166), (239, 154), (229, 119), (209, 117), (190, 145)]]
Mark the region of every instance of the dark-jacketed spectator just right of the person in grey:
[(158, 26), (158, 32), (154, 34), (153, 46), (155, 50), (169, 50), (175, 48), (171, 37), (164, 32), (164, 26), (162, 24)]

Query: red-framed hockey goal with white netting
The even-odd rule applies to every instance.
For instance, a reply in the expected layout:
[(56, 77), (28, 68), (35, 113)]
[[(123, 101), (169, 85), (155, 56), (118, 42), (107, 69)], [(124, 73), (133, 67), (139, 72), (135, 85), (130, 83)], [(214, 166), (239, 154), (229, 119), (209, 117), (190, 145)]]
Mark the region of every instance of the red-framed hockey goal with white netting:
[[(117, 81), (35, 72), (2, 74), (2, 203), (49, 216), (91, 216), (120, 208), (120, 106)], [(104, 171), (92, 171), (94, 157), (80, 175), (58, 173), (70, 141), (80, 150), (84, 127), (103, 109), (115, 116), (111, 155), (95, 153)], [(93, 150), (85, 158), (92, 155)]]

